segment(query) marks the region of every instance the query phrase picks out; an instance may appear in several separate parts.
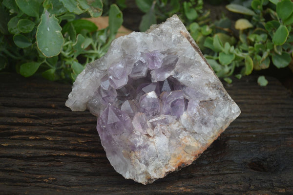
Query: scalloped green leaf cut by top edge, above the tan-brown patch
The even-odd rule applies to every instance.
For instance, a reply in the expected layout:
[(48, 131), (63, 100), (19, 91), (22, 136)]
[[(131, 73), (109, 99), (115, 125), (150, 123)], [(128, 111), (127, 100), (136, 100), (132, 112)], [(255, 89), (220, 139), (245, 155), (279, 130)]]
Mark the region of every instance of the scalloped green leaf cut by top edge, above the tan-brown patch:
[(99, 17), (102, 15), (102, 0), (78, 0), (81, 8), (86, 10), (91, 17)]

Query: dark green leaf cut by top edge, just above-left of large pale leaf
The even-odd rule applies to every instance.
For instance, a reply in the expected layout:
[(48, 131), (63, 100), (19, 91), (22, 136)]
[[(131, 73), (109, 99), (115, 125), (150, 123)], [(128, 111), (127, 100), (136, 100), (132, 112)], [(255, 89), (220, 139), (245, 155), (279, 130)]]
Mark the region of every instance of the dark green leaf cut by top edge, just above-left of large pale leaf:
[(38, 0), (15, 0), (26, 15), (39, 18), (40, 3)]

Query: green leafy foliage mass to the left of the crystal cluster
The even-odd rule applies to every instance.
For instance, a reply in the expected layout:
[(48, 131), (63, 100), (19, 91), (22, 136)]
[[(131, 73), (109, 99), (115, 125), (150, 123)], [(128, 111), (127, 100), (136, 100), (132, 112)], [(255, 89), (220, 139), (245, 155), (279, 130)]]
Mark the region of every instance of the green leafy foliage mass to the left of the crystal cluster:
[[(55, 80), (75, 80), (84, 64), (102, 57), (122, 25), (117, 5), (109, 26), (98, 29), (82, 17), (99, 17), (102, 0), (0, 0), (0, 70), (15, 69)], [(120, 4), (123, 1), (120, 0)]]

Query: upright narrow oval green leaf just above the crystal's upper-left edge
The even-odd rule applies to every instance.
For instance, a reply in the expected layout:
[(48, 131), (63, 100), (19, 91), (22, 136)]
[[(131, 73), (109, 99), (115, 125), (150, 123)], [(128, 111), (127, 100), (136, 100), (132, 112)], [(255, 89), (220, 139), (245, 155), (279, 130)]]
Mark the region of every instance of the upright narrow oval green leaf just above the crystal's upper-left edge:
[(118, 29), (123, 23), (123, 14), (120, 11), (119, 7), (115, 4), (112, 4), (110, 6), (110, 11), (109, 11), (109, 37), (110, 39), (114, 39)]

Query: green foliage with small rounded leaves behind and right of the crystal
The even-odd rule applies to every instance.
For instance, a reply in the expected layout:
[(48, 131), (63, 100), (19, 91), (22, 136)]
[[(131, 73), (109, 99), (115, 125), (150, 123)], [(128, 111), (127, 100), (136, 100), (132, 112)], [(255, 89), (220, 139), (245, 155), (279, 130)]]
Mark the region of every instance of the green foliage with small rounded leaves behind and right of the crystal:
[[(242, 14), (243, 17), (236, 20), (223, 17), (219, 21), (209, 23), (209, 12), (202, 10), (202, 0), (184, 0), (176, 5), (172, 4), (172, 0), (136, 0), (138, 7), (146, 13), (141, 21), (141, 31), (156, 23), (156, 19), (161, 22), (161, 19), (166, 20), (170, 14), (177, 13), (201, 48), (209, 65), (227, 83), (232, 82), (232, 74), (240, 79), (251, 74), (253, 70), (269, 68), (271, 63), (278, 68), (288, 66), (293, 58), (293, 2), (233, 2), (238, 4), (231, 3), (226, 8)], [(243, 3), (240, 4), (241, 2)], [(167, 12), (167, 9), (172, 11)], [(236, 21), (236, 33), (230, 30), (231, 20)], [(258, 83), (265, 86), (267, 80), (260, 77)]]

